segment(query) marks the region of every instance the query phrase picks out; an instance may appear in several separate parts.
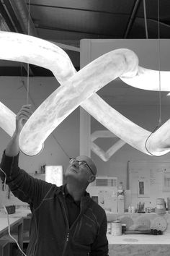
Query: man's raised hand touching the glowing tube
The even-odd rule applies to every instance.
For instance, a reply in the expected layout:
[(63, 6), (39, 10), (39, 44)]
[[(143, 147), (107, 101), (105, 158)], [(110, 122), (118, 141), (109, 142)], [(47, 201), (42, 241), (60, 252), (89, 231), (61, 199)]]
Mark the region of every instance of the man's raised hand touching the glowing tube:
[(32, 115), (31, 105), (24, 105), (19, 110), (17, 116), (16, 116), (16, 130), (15, 132), (17, 135), (20, 134), (22, 127), (26, 123), (26, 121), (30, 118)]

